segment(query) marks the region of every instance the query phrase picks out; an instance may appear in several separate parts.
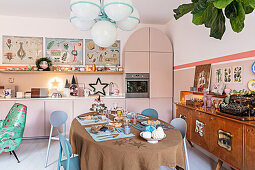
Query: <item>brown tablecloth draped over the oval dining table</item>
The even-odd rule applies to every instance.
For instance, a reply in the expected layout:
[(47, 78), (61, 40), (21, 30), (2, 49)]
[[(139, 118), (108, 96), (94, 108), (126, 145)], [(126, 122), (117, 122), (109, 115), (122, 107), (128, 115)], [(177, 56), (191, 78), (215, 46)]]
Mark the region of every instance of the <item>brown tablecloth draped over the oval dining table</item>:
[[(94, 114), (89, 112), (78, 117)], [(110, 115), (109, 119), (114, 120), (114, 116)], [(70, 127), (69, 142), (73, 153), (80, 157), (81, 170), (158, 170), (160, 166), (186, 169), (182, 135), (177, 129), (165, 131), (166, 137), (152, 144), (133, 126), (132, 137), (96, 142), (86, 131), (91, 126), (83, 126), (74, 118)]]

